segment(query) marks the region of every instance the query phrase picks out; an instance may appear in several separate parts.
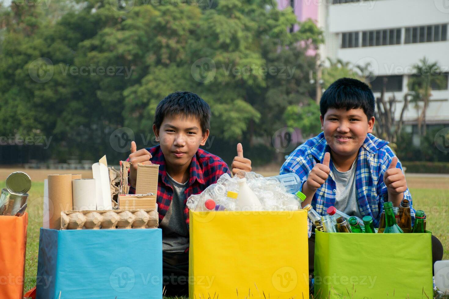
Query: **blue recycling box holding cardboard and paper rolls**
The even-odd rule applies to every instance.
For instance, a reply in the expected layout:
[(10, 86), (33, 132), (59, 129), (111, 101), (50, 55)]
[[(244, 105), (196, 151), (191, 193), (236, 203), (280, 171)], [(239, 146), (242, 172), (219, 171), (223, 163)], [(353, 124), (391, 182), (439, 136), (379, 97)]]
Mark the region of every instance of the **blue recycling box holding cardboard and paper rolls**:
[(161, 299), (162, 230), (40, 229), (37, 299)]

